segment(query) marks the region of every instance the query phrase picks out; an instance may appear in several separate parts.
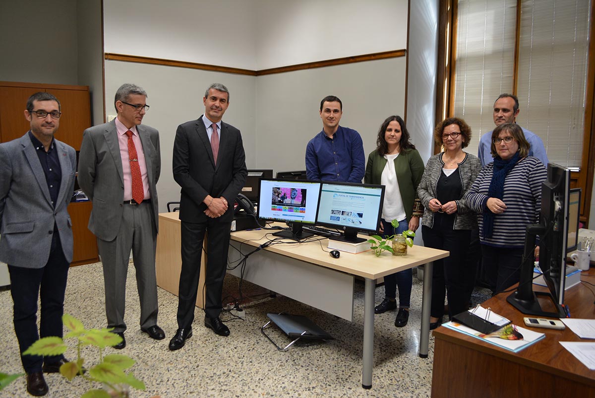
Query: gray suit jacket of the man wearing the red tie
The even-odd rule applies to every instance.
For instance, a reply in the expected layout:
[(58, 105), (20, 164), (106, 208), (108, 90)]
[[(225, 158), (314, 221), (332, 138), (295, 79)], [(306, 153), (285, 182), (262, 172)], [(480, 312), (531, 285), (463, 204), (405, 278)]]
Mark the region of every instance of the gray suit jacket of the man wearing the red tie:
[[(157, 181), (161, 173), (159, 132), (136, 126), (145, 153), (153, 207), (153, 229), (158, 231)], [(79, 154), (79, 185), (93, 201), (89, 230), (101, 240), (114, 240), (120, 229), (124, 202), (124, 172), (115, 121), (84, 130)]]

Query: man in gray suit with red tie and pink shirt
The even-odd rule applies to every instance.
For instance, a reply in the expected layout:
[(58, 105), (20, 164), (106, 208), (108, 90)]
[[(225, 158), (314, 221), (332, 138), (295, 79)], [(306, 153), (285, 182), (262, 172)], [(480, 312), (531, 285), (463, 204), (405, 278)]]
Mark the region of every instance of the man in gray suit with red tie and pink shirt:
[(104, 266), (108, 327), (126, 347), (124, 308), (130, 250), (140, 298), (140, 329), (155, 340), (157, 325), (155, 248), (158, 231), (156, 184), (161, 172), (159, 132), (140, 123), (149, 105), (139, 86), (124, 84), (115, 94), (118, 116), (86, 129), (79, 156), (79, 185), (93, 201), (89, 230), (97, 237)]

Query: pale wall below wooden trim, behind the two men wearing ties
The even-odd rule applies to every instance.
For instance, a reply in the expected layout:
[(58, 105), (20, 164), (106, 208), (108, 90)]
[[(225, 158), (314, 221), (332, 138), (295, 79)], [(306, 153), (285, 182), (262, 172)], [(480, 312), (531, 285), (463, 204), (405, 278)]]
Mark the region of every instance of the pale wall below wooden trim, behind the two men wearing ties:
[(157, 184), (159, 211), (166, 212), (168, 201), (180, 200), (180, 186), (173, 178), (172, 151), (177, 126), (198, 119), (205, 111), (202, 97), (213, 82), (221, 82), (230, 91), (230, 104), (224, 120), (242, 132), (246, 164), (256, 163), (254, 76), (196, 69), (105, 61), (105, 98), (107, 115), (115, 115), (114, 95), (123, 83), (134, 83), (148, 94), (151, 108), (143, 124), (159, 130), (161, 177)]

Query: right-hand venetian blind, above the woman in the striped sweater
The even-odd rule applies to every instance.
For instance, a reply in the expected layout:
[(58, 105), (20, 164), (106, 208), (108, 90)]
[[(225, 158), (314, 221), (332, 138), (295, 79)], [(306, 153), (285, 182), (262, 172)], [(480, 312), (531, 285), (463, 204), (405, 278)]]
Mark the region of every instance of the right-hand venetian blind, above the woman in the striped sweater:
[(521, 4), (516, 120), (566, 167), (581, 166), (590, 11), (588, 0)]

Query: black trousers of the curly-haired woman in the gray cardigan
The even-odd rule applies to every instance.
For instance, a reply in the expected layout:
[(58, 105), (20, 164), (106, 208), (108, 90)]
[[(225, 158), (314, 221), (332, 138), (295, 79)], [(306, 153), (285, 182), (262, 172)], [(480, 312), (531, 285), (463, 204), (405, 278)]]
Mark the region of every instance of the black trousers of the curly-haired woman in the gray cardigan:
[(444, 298), (448, 298), (449, 315), (463, 312), (475, 284), (477, 260), (469, 261), (468, 251), (471, 245), (470, 229), (441, 228), (434, 225), (428, 228), (422, 225), (424, 245), (426, 247), (447, 250), (450, 256), (434, 260), (432, 278), (431, 316), (442, 318), (444, 315)]

